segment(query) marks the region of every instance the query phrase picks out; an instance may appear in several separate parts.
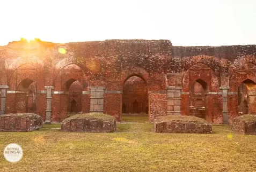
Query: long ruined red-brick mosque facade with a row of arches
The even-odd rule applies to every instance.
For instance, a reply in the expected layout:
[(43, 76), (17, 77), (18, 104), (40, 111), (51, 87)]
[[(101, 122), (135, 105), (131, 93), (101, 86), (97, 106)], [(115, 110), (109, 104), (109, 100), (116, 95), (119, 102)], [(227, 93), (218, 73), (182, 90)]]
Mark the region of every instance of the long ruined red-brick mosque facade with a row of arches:
[(36, 113), (46, 123), (90, 112), (229, 123), (256, 114), (255, 56), (256, 45), (13, 41), (0, 46), (0, 113)]

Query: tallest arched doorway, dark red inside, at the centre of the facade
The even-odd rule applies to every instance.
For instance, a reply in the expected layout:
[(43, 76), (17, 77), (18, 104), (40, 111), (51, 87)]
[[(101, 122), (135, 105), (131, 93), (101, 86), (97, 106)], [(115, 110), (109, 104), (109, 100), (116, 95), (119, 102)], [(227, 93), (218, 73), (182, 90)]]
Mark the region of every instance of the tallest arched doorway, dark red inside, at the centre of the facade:
[[(122, 94), (122, 121), (126, 121), (129, 116), (145, 116), (148, 121), (148, 86), (140, 76), (131, 75), (123, 84)], [(136, 121), (134, 121), (136, 122)]]

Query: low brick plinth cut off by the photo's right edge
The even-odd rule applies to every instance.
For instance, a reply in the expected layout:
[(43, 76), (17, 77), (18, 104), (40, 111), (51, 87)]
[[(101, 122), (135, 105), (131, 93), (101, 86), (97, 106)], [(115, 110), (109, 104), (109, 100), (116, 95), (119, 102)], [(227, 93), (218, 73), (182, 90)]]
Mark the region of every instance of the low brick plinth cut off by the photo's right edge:
[(231, 120), (231, 129), (240, 134), (256, 135), (256, 115), (241, 115)]

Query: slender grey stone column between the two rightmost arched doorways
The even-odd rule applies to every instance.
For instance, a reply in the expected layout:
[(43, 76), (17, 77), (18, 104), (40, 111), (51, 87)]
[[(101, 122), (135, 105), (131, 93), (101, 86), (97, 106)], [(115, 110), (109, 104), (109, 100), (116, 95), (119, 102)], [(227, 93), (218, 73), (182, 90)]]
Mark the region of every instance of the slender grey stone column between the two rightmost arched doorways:
[(228, 118), (228, 91), (229, 87), (220, 87), (222, 90), (222, 116), (223, 116), (223, 124), (229, 124)]

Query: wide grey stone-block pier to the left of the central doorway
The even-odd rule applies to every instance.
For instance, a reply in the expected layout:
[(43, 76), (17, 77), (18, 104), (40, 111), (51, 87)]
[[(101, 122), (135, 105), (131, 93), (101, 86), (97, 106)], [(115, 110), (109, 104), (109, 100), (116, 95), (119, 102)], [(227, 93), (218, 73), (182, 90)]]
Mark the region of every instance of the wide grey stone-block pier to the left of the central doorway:
[(90, 87), (90, 112), (104, 113), (104, 90), (105, 87)]

